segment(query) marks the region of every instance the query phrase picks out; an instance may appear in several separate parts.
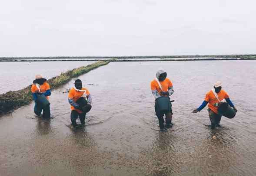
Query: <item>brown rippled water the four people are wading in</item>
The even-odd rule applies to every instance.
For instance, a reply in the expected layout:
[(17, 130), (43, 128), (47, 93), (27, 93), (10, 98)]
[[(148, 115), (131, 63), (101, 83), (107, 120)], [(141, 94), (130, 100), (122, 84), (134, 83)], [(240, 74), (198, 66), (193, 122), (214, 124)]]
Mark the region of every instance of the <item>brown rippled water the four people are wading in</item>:
[[(150, 92), (158, 67), (175, 89), (175, 125), (165, 133)], [(50, 121), (35, 117), (33, 104), (0, 117), (0, 175), (254, 176), (255, 70), (256, 61), (111, 62), (79, 77), (93, 97), (85, 128), (70, 127), (62, 92), (73, 80), (53, 91)], [(206, 108), (191, 111), (216, 80), (238, 113), (211, 130)]]

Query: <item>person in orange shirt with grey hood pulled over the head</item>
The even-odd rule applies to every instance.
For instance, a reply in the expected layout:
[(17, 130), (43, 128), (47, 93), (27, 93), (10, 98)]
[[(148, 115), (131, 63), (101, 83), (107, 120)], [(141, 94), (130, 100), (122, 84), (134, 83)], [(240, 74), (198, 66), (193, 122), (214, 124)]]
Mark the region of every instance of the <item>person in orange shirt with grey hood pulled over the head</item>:
[[(161, 96), (165, 96), (165, 97), (169, 97), (171, 95), (173, 95), (173, 84), (170, 81), (169, 78), (167, 77), (167, 73), (163, 70), (163, 69), (159, 69), (156, 72), (156, 78), (151, 81), (151, 91), (152, 94), (154, 96), (155, 99), (161, 97)], [(173, 126), (172, 124), (172, 104), (170, 102), (170, 111), (167, 112), (160, 112), (156, 106), (155, 103), (155, 112), (156, 112), (156, 116), (158, 118), (159, 121), (159, 126), (160, 126), (160, 131), (166, 131), (166, 128), (170, 128)], [(165, 115), (165, 120), (166, 120), (166, 128), (164, 127), (164, 119), (163, 116)]]

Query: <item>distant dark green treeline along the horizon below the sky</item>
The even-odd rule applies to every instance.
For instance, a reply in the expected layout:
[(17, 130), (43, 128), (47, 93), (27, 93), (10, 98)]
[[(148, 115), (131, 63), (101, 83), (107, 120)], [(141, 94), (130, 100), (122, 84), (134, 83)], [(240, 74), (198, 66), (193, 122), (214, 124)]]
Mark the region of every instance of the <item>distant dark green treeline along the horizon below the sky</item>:
[(0, 60), (17, 59), (149, 59), (149, 58), (256, 58), (250, 55), (145, 55), (145, 56), (53, 56), (53, 57), (0, 57)]

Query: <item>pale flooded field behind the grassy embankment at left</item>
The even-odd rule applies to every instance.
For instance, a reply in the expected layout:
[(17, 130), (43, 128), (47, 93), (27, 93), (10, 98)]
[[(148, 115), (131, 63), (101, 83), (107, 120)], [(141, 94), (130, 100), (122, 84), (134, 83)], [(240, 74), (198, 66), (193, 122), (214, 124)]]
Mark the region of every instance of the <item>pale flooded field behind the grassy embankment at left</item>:
[(52, 78), (62, 72), (94, 62), (0, 62), (0, 94), (17, 91), (32, 84), (35, 75)]

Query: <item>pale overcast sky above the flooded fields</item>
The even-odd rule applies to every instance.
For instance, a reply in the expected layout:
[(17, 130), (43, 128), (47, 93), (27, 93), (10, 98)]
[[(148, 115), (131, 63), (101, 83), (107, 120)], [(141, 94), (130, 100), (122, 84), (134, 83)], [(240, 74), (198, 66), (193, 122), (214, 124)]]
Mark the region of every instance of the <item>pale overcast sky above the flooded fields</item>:
[(0, 2), (0, 56), (195, 54), (256, 54), (256, 1)]

